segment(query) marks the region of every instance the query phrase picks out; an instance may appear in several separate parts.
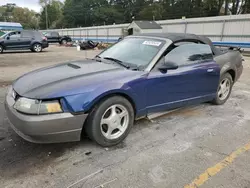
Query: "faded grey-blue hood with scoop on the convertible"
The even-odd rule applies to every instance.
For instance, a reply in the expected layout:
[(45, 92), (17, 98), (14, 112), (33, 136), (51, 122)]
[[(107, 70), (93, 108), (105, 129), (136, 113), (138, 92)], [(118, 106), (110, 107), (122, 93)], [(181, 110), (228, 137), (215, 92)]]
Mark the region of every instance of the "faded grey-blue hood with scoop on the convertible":
[(86, 92), (105, 82), (131, 78), (135, 73), (116, 64), (74, 61), (27, 73), (13, 83), (13, 88), (27, 98), (57, 98)]

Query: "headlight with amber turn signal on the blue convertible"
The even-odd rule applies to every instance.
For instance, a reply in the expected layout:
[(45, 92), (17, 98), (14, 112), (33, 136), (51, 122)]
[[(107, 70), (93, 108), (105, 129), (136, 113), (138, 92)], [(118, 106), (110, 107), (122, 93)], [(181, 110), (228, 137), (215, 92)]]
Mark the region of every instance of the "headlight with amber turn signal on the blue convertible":
[(14, 108), (26, 114), (51, 114), (63, 112), (59, 101), (39, 101), (27, 98), (19, 98)]

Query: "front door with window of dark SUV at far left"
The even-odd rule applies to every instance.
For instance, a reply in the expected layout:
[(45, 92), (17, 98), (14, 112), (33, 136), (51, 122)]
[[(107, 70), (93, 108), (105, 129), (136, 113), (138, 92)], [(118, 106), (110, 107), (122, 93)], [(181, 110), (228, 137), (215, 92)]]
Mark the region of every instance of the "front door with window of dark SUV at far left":
[(10, 32), (8, 35), (6, 35), (4, 40), (4, 45), (6, 49), (14, 49), (18, 48), (20, 45), (20, 31)]

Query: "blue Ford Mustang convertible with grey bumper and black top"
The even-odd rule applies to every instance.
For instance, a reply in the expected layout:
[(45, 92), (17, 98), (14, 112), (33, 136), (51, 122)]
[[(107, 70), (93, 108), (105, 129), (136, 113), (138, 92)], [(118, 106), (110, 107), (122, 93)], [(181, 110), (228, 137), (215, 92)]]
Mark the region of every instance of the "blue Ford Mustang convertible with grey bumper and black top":
[(9, 88), (12, 128), (36, 143), (120, 143), (134, 120), (190, 104), (223, 104), (242, 73), (238, 49), (193, 34), (128, 36), (92, 60), (39, 69)]

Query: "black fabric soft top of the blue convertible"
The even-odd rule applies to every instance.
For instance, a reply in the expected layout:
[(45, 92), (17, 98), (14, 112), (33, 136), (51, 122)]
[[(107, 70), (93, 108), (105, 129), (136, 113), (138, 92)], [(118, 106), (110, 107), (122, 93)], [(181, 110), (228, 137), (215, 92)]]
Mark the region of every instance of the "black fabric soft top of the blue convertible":
[(181, 41), (199, 41), (204, 44), (208, 44), (214, 55), (220, 55), (221, 50), (216, 48), (212, 41), (205, 37), (205, 36), (198, 36), (195, 34), (189, 34), (189, 33), (143, 33), (143, 34), (137, 34), (135, 36), (148, 36), (148, 37), (159, 37), (159, 38), (166, 38), (171, 40), (173, 43), (181, 42)]

